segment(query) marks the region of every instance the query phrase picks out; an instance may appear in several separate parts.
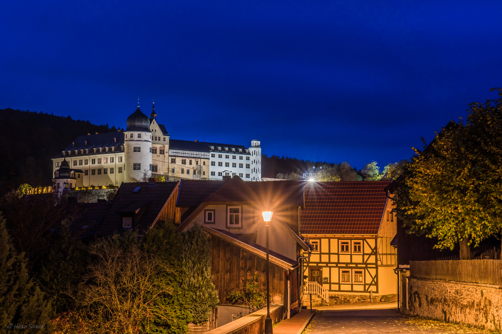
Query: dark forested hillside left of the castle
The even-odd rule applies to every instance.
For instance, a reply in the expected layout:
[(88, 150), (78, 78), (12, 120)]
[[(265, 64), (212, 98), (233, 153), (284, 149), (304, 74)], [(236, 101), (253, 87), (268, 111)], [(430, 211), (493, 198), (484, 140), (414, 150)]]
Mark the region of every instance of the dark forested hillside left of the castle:
[(21, 183), (51, 185), (51, 158), (88, 132), (116, 131), (106, 125), (29, 110), (0, 109), (0, 185), (2, 192)]

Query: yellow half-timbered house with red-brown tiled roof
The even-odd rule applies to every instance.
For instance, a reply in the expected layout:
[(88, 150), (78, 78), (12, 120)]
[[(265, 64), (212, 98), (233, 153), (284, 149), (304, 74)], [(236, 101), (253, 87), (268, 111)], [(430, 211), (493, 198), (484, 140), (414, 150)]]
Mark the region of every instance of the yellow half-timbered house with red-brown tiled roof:
[[(396, 222), (392, 201), (384, 191), (389, 183), (305, 185), (300, 230), (314, 250), (303, 267), (304, 292), (314, 293), (313, 300), (321, 304), (369, 301), (370, 295), (376, 299), (397, 292), (393, 270), (397, 255), (390, 244)], [(309, 302), (305, 296), (304, 300)]]

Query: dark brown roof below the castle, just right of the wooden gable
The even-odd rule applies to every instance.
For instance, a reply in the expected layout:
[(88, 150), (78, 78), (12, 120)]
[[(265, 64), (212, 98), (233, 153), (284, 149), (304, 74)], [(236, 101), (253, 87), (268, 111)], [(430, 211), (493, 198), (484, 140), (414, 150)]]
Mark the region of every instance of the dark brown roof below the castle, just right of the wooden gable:
[(218, 190), (224, 181), (181, 180), (176, 199), (177, 206), (199, 206), (209, 195)]

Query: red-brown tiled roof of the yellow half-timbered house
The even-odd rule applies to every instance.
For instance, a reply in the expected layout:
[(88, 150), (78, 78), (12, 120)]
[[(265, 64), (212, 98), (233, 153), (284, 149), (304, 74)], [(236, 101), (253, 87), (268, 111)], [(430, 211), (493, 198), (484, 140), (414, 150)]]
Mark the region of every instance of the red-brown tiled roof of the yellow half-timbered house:
[(390, 181), (316, 182), (305, 185), (301, 233), (378, 234)]

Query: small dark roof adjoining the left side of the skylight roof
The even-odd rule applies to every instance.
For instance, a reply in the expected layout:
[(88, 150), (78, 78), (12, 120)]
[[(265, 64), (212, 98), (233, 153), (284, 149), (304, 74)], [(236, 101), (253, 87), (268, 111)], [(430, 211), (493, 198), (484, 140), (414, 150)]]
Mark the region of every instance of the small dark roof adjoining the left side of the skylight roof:
[(110, 207), (111, 201), (77, 204), (77, 219), (71, 222), (69, 226), (70, 233), (79, 238), (93, 235)]

